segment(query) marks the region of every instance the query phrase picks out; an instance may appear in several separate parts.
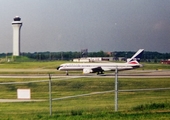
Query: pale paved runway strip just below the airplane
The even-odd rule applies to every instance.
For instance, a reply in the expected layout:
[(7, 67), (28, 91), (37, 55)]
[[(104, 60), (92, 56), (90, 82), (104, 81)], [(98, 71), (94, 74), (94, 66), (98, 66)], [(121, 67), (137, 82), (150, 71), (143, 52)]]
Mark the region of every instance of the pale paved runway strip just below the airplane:
[[(111, 73), (105, 73), (101, 75), (96, 75), (96, 73), (90, 74), (51, 74), (52, 78), (75, 78), (75, 77), (110, 77), (114, 78), (114, 71)], [(170, 70), (129, 70), (129, 71), (120, 71), (118, 73), (119, 78), (168, 78), (170, 77)], [(49, 78), (49, 74), (6, 74), (0, 75), (0, 78)]]

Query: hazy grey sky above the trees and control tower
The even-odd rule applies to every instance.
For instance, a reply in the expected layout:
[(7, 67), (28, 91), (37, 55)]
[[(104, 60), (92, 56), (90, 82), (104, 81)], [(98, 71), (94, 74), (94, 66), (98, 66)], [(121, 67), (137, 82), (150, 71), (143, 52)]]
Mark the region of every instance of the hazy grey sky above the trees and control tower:
[(12, 52), (19, 16), (21, 52), (170, 53), (170, 0), (1, 0), (0, 53)]

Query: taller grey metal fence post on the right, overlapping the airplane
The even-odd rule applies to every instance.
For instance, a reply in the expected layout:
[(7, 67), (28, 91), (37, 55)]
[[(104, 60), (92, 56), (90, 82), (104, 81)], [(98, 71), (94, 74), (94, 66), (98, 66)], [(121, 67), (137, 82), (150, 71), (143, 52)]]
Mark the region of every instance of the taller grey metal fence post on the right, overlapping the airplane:
[(115, 112), (118, 110), (118, 68), (115, 69)]

